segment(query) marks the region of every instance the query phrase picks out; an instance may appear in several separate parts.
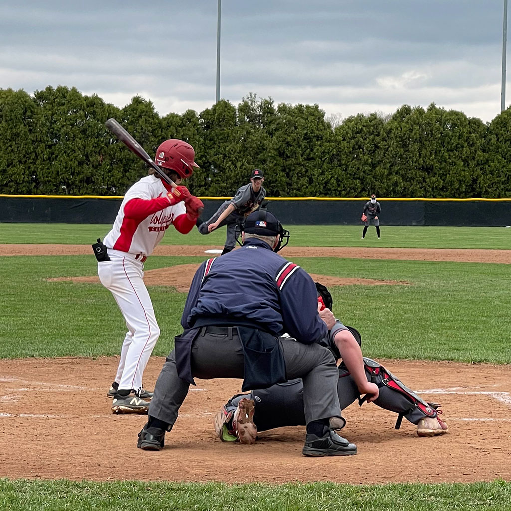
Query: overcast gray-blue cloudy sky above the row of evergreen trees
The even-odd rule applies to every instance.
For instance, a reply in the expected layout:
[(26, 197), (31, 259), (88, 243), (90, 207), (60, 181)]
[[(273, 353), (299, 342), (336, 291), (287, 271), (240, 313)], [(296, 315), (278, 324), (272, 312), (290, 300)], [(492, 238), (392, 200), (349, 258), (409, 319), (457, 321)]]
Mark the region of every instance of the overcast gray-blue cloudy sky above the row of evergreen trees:
[[(201, 112), (215, 102), (217, 5), (2, 0), (0, 88), (75, 86), (119, 107), (140, 95), (160, 115)], [(342, 118), (434, 102), (491, 121), (502, 18), (503, 0), (222, 0), (220, 97)]]

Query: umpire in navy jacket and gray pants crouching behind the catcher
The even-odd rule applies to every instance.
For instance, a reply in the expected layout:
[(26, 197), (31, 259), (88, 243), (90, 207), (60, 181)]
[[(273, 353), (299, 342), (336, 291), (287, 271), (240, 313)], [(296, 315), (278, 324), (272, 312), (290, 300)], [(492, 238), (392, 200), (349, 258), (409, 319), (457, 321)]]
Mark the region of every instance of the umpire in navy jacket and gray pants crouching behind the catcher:
[[(245, 220), (239, 250), (199, 266), (184, 304), (184, 331), (158, 376), (137, 447), (158, 451), (164, 446), (194, 377), (240, 378), (242, 390), (301, 377), (307, 423), (303, 454), (357, 453), (334, 431), (344, 425), (339, 372), (331, 351), (318, 344), (335, 318), (330, 309), (318, 313), (310, 275), (276, 253), (288, 241), (289, 232), (272, 213), (255, 211)], [(281, 339), (283, 332), (296, 340)]]

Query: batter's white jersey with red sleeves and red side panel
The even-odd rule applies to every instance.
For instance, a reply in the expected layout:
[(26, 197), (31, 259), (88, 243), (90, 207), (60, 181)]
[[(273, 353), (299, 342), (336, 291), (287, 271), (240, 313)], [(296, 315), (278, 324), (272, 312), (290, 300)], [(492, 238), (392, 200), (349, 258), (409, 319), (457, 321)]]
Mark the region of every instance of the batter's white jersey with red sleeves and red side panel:
[(170, 205), (167, 193), (158, 177), (148, 175), (137, 181), (126, 192), (113, 227), (105, 236), (106, 247), (151, 255), (175, 218), (186, 213), (183, 202)]

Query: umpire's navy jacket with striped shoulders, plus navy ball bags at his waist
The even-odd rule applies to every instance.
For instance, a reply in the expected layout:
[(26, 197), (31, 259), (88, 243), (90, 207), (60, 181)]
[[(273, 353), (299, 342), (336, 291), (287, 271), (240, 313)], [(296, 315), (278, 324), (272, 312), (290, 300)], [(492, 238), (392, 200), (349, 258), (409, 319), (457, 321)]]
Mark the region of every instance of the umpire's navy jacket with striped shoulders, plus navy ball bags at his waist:
[[(204, 261), (195, 272), (181, 317), (184, 332), (175, 339), (178, 374), (190, 383), (194, 383), (192, 342), (201, 326), (212, 325), (239, 327), (245, 360), (242, 389), (254, 388), (250, 387), (253, 381), (247, 379), (250, 368), (259, 373), (252, 375), (256, 379), (269, 375), (268, 386), (286, 380), (285, 364), (282, 374), (275, 369), (275, 360), (268, 358), (262, 363), (270, 338), (283, 362), (278, 338), (284, 332), (304, 344), (328, 335), (317, 312), (317, 290), (311, 276), (257, 238), (248, 238), (242, 248)], [(247, 330), (258, 331), (262, 351), (245, 349), (242, 332)], [(250, 342), (253, 340), (252, 336)]]

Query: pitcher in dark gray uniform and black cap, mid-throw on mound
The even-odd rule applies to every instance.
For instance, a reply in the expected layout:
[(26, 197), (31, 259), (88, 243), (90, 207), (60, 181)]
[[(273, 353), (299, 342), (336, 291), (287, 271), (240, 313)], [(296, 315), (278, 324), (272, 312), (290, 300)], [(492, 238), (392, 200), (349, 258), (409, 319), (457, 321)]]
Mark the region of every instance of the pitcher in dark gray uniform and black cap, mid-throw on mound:
[[(241, 232), (241, 226), (245, 218), (257, 210), (266, 197), (266, 190), (263, 187), (264, 173), (260, 169), (252, 170), (250, 183), (238, 188), (234, 197), (225, 201), (215, 214), (205, 222), (199, 221), (197, 228), (201, 234), (209, 234), (214, 229), (227, 226), (225, 235), (225, 246), (222, 254), (226, 254), (236, 246), (236, 235)], [(239, 226), (239, 230), (236, 227)]]

